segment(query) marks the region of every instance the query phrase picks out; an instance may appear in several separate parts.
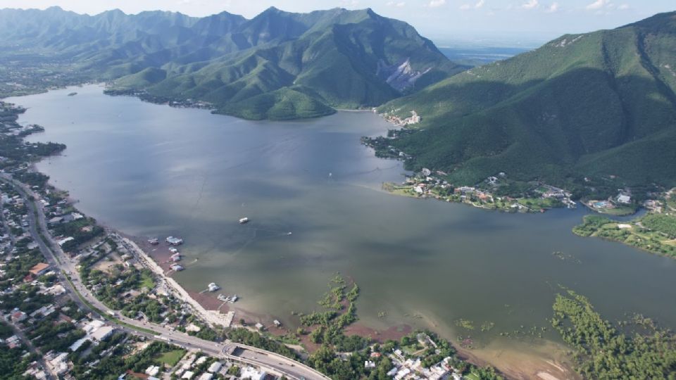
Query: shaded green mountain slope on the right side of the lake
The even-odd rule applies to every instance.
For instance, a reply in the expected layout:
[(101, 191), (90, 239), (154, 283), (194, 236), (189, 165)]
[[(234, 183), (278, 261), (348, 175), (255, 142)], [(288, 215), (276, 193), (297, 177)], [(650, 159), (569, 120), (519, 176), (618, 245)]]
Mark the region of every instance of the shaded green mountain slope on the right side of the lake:
[(676, 186), (676, 13), (568, 34), (396, 99), (423, 121), (389, 141), (456, 183), (513, 179)]

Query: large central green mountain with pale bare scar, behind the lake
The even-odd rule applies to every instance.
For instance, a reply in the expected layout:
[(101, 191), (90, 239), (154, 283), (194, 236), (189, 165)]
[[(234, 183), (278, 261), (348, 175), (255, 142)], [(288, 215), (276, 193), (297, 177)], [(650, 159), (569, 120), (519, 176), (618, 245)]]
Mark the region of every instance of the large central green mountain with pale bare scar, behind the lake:
[(115, 84), (208, 101), (241, 118), (290, 119), (380, 106), (462, 70), (410, 25), (370, 9), (299, 14), (270, 8), (224, 38), (241, 50), (165, 65), (166, 78), (151, 86), (128, 78)]

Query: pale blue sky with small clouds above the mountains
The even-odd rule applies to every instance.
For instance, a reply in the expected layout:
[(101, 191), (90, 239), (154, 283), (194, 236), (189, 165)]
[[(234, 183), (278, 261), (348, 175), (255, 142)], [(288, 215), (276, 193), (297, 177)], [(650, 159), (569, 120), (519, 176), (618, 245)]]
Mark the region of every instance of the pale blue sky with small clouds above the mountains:
[(609, 29), (676, 11), (676, 0), (0, 0), (0, 8), (49, 6), (89, 14), (114, 8), (193, 16), (228, 11), (246, 18), (270, 6), (290, 12), (372, 8), (406, 21), (440, 46), (453, 42), (527, 46), (565, 33)]

